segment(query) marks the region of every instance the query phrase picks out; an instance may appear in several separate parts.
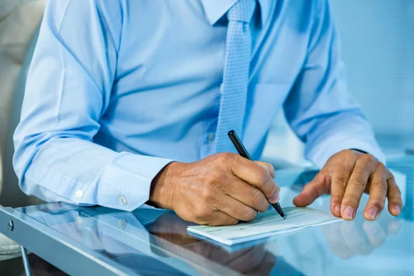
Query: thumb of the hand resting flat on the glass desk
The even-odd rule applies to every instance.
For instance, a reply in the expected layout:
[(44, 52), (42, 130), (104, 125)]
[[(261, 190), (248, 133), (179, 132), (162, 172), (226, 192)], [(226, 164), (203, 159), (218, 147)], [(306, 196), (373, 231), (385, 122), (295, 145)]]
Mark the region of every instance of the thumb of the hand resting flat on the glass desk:
[(324, 172), (319, 172), (315, 178), (304, 186), (302, 192), (293, 199), (293, 204), (297, 207), (308, 206), (321, 195), (328, 193), (328, 186), (325, 183)]

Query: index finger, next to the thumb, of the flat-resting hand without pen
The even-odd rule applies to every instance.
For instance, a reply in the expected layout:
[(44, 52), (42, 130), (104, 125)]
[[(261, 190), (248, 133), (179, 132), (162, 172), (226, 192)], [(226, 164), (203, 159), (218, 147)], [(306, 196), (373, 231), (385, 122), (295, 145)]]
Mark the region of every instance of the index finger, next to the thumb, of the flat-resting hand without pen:
[(331, 212), (335, 217), (341, 217), (341, 205), (346, 186), (355, 166), (354, 159), (335, 162), (332, 168), (331, 181)]

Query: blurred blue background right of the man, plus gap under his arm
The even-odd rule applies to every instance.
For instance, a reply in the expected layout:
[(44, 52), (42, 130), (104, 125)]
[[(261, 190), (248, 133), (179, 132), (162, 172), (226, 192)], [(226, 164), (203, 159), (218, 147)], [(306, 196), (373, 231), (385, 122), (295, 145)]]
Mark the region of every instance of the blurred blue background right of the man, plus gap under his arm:
[[(342, 41), (348, 88), (364, 108), (377, 139), (393, 154), (414, 148), (414, 1), (331, 0)], [(282, 112), (264, 157), (304, 164), (302, 143)]]

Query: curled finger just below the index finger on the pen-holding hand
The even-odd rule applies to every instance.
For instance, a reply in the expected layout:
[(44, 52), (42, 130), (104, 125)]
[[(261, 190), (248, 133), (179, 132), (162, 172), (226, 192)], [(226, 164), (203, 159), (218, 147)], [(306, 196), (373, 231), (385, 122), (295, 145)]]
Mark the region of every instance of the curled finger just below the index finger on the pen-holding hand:
[(228, 195), (259, 212), (264, 213), (268, 210), (270, 203), (261, 190), (237, 177), (234, 177), (230, 183), (224, 187)]

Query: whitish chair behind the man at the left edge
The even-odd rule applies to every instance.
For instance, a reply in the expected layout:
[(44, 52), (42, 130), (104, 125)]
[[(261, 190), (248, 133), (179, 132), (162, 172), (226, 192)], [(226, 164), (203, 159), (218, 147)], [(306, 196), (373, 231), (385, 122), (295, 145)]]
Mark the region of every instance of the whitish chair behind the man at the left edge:
[[(0, 0), (0, 204), (39, 204), (23, 194), (12, 168), (12, 135), (20, 118), (24, 84), (46, 0)], [(37, 35), (36, 35), (37, 37)], [(20, 246), (0, 234), (0, 260), (20, 255)]]

